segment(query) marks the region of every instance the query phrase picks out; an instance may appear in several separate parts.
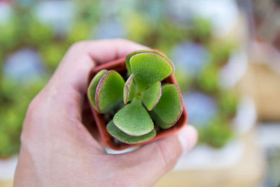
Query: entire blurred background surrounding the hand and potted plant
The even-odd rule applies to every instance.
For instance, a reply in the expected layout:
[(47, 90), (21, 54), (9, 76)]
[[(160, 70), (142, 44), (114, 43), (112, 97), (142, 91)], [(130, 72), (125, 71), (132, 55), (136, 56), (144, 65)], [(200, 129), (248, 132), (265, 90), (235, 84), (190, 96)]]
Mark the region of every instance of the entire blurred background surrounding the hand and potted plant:
[(0, 0), (0, 186), (31, 99), (75, 42), (125, 38), (174, 62), (199, 144), (157, 186), (280, 183), (280, 1)]

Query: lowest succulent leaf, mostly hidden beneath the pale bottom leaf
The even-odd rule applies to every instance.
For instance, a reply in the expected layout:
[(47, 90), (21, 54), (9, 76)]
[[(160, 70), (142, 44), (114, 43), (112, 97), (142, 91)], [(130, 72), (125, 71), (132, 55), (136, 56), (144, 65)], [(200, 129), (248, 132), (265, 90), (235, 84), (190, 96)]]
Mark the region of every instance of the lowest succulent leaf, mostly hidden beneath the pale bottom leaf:
[(139, 137), (133, 137), (128, 134), (125, 134), (125, 132), (118, 129), (118, 127), (113, 123), (113, 120), (111, 120), (107, 125), (107, 131), (109, 134), (111, 134), (113, 137), (118, 139), (119, 141), (122, 141), (126, 144), (139, 144), (144, 141), (148, 141), (155, 137), (156, 132), (155, 129), (153, 129), (148, 134), (144, 134)]

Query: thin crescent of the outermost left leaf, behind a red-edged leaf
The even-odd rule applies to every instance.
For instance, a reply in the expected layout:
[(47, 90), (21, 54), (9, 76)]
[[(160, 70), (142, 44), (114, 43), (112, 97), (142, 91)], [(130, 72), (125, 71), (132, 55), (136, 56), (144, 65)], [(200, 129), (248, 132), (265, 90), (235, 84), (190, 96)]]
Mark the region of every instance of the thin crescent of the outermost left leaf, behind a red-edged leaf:
[(94, 78), (92, 78), (92, 81), (90, 82), (90, 86), (87, 89), (87, 93), (88, 93), (88, 97), (90, 99), (90, 103), (92, 104), (92, 106), (94, 107), (95, 110), (97, 110), (96, 104), (95, 104), (95, 92), (97, 89), (97, 85), (100, 81), (100, 79), (102, 78), (102, 76), (104, 76), (104, 74), (106, 74), (108, 70), (106, 69), (102, 69), (100, 70), (95, 76)]

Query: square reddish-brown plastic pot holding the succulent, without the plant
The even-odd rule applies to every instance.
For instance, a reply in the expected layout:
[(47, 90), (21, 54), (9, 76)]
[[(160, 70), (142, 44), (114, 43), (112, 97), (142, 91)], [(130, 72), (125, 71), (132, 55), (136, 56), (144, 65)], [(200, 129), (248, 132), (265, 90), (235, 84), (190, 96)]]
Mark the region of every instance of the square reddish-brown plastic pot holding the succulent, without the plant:
[[(107, 69), (107, 70), (113, 69), (115, 71), (118, 71), (118, 73), (120, 73), (120, 74), (125, 73), (127, 71), (127, 68), (125, 66), (125, 57), (120, 58), (118, 60), (114, 60), (114, 61), (106, 63), (106, 64), (101, 64), (97, 67), (94, 67), (92, 69), (92, 71), (90, 71), (88, 85), (90, 85), (90, 81), (92, 80), (94, 75), (97, 74), (102, 69)], [(174, 74), (171, 74), (169, 77), (165, 78), (165, 80), (163, 82), (164, 83), (173, 83), (175, 85), (178, 85)], [(88, 95), (87, 95), (87, 97), (88, 97)], [(89, 102), (90, 102), (90, 100), (89, 100)], [(140, 144), (125, 144), (125, 143), (116, 144), (115, 141), (113, 140), (113, 137), (111, 137), (111, 135), (106, 130), (107, 124), (106, 124), (106, 121), (104, 120), (104, 114), (95, 111), (91, 104), (90, 104), (90, 107), (91, 107), (92, 115), (94, 116), (95, 123), (97, 124), (97, 128), (99, 130), (99, 134), (100, 134), (103, 146), (106, 146), (107, 148), (111, 148), (116, 151), (122, 151), (127, 148), (133, 148), (136, 146), (148, 144), (152, 141), (156, 141), (158, 139), (162, 139), (171, 134), (174, 134), (174, 133), (178, 132), (179, 130), (181, 130), (181, 128), (183, 128), (183, 126), (187, 123), (187, 120), (188, 120), (188, 114), (186, 111), (186, 107), (183, 104), (183, 113), (182, 113), (181, 117), (179, 118), (179, 120), (177, 121), (177, 123), (169, 129), (166, 129), (166, 130), (161, 129), (159, 132), (157, 132), (157, 135), (153, 139), (142, 142)]]

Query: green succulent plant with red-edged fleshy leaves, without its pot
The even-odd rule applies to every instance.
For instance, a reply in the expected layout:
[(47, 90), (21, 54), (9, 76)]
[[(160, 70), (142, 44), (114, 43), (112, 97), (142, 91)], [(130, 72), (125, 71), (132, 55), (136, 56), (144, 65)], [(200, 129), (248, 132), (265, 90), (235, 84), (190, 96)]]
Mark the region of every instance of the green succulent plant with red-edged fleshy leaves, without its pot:
[(126, 81), (117, 71), (102, 69), (92, 78), (88, 97), (99, 113), (116, 112), (106, 126), (112, 137), (138, 144), (155, 137), (155, 126), (172, 127), (183, 112), (183, 99), (176, 85), (161, 82), (174, 69), (162, 53), (136, 51), (127, 55), (125, 64)]

